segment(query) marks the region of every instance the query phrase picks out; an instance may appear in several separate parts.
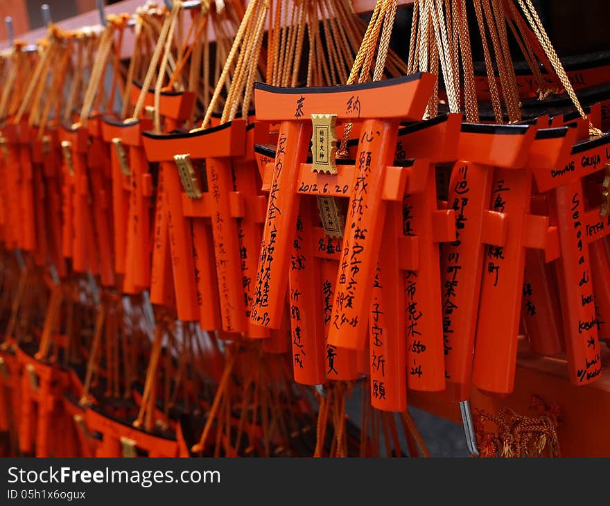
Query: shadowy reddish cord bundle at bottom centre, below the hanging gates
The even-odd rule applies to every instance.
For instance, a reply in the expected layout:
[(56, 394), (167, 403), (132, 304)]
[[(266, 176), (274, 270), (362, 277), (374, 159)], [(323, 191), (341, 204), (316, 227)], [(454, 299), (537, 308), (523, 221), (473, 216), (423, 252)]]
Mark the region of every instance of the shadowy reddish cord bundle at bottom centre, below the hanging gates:
[(306, 454), (301, 442), (311, 434), (306, 423), (311, 406), (306, 392), (295, 389), (285, 357), (265, 353), (256, 340), (229, 344), (226, 355), (202, 435), (191, 451), (216, 457)]

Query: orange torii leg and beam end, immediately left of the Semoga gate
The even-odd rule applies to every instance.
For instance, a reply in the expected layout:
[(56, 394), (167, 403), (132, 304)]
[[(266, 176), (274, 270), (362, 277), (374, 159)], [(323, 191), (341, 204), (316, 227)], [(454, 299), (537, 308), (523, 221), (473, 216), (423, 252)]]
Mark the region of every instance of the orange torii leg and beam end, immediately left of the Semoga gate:
[(488, 245), (484, 259), (473, 360), (479, 390), (513, 390), (526, 248), (542, 250), (546, 261), (559, 256), (557, 228), (548, 216), (530, 212), (532, 171), (563, 166), (575, 137), (574, 129), (537, 130), (523, 168), (494, 171), (489, 205), (504, 214), (508, 226), (504, 245)]

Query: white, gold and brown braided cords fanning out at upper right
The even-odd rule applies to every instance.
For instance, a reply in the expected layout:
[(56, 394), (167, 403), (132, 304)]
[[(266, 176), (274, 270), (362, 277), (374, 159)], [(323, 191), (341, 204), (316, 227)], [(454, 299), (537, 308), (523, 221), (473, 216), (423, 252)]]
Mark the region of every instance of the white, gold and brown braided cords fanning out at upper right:
[[(519, 3), (522, 15), (517, 11), (515, 3)], [(409, 71), (432, 71), (442, 75), (449, 111), (462, 112), (463, 97), (466, 120), (479, 121), (467, 3), (464, 0), (417, 0), (413, 10)], [(496, 123), (505, 122), (504, 110), (509, 123), (521, 121), (521, 103), (507, 38), (508, 30), (512, 32), (525, 62), (532, 69), (541, 98), (548, 96), (551, 90), (544, 83), (540, 64), (546, 67), (551, 76), (557, 77), (575, 109), (586, 119), (531, 0), (474, 0), (473, 10), (479, 28)], [(528, 24), (531, 28), (528, 28)], [(530, 35), (532, 32), (534, 40)], [(437, 112), (438, 99), (433, 96), (426, 117), (435, 116)], [(590, 131), (593, 135), (601, 133), (592, 125)]]

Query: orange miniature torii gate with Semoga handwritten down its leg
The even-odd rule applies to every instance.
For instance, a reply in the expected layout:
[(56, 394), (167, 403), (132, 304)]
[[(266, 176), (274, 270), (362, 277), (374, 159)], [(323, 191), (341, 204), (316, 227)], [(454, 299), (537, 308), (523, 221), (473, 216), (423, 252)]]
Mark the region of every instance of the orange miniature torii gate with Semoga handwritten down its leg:
[[(552, 121), (552, 125), (564, 123), (561, 117)], [(575, 123), (577, 136), (586, 140), (573, 144), (561, 168), (534, 171), (534, 178), (539, 191), (548, 195), (550, 220), (559, 232), (557, 274), (570, 381), (584, 385), (598, 379), (601, 372), (593, 269), (603, 265), (599, 251), (594, 254), (597, 265), (592, 264), (588, 246), (610, 230), (607, 218), (600, 216), (599, 205), (586, 209), (583, 179), (601, 171), (610, 161), (610, 135), (591, 139), (588, 121), (567, 123)]]

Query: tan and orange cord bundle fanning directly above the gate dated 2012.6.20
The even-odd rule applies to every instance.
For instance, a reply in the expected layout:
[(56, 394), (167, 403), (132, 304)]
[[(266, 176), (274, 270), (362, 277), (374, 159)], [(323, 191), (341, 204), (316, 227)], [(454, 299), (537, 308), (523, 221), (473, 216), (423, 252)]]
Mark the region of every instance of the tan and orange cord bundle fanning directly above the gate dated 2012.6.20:
[[(262, 46), (265, 20), (268, 26), (266, 58)], [(265, 76), (265, 82), (275, 86), (345, 82), (363, 34), (362, 21), (345, 0), (290, 3), (277, 0), (275, 7), (262, 0), (252, 7), (249, 3), (200, 128), (209, 126), (231, 73), (221, 123), (232, 121), (240, 105), (242, 116), (247, 114), (257, 76)], [(386, 67), (381, 64), (380, 76), (384, 72), (398, 76), (404, 73), (405, 66), (394, 52), (388, 51), (389, 39), (387, 42), (383, 51), (390, 58)], [(304, 51), (306, 76), (302, 68)], [(385, 56), (383, 59), (385, 62)]]

